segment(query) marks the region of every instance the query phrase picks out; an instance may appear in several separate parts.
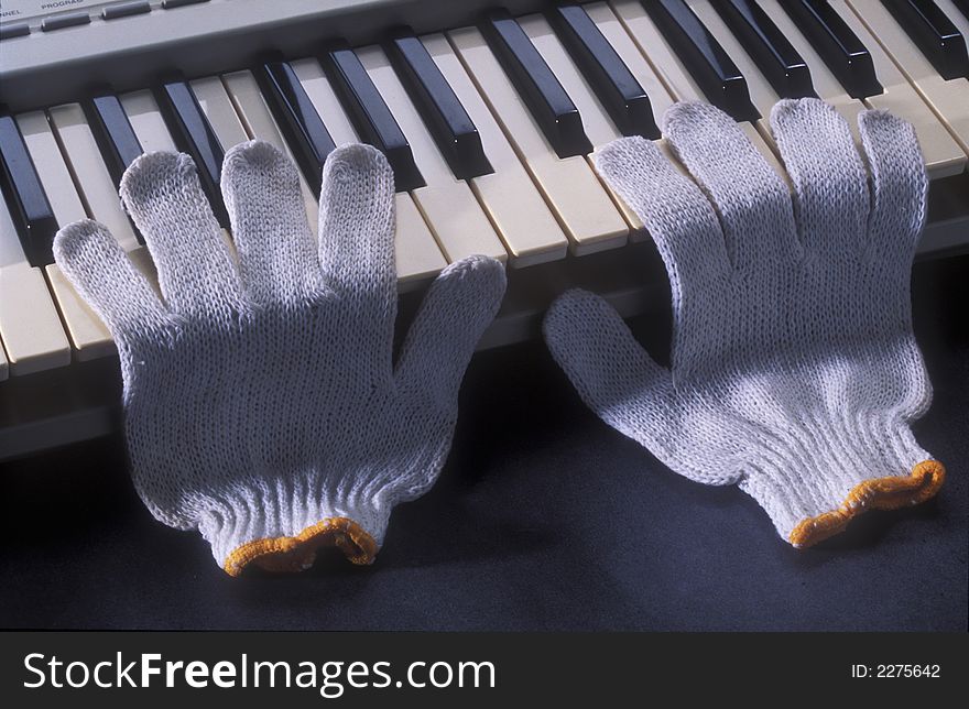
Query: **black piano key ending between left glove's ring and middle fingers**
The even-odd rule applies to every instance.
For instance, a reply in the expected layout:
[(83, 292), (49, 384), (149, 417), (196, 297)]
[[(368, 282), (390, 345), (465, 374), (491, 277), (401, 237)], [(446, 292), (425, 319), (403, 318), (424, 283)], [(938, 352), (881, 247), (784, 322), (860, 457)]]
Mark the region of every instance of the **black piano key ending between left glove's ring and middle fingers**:
[(198, 181), (216, 219), (228, 228), (229, 216), (219, 188), (225, 151), (192, 87), (183, 79), (163, 81), (156, 89), (156, 98), (178, 150), (195, 161)]

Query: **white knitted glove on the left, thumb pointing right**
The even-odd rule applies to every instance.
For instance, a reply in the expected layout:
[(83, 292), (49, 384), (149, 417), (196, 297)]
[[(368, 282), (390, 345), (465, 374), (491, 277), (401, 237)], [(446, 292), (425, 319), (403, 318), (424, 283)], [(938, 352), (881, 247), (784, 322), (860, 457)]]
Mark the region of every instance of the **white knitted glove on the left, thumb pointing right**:
[(235, 255), (190, 159), (138, 159), (121, 198), (163, 299), (101, 225), (54, 242), (118, 345), (139, 494), (165, 524), (197, 527), (232, 576), (305, 568), (324, 544), (369, 564), (391, 509), (440, 472), (504, 270), (447, 268), (394, 366), (393, 184), (379, 151), (334, 151), (317, 254), (296, 168), (266, 143), (238, 145), (221, 179)]

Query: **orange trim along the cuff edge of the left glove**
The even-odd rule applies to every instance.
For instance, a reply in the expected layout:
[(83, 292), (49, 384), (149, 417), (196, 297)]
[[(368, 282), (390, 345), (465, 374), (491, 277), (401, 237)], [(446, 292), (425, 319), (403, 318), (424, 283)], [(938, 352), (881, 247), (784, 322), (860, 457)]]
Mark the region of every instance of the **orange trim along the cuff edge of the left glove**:
[(266, 571), (294, 574), (313, 566), (323, 546), (336, 546), (353, 564), (372, 564), (377, 557), (377, 542), (363, 527), (349, 517), (327, 517), (296, 536), (247, 542), (226, 557), (224, 568), (229, 576), (239, 576), (249, 564)]

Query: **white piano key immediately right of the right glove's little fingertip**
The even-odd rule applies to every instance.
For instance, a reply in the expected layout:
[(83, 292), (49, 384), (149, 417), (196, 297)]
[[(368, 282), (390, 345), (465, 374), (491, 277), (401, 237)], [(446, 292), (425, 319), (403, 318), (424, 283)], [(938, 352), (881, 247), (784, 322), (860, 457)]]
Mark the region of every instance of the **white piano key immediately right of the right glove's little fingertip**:
[[(875, 74), (885, 89), (884, 94), (865, 99), (865, 103), (871, 108), (889, 110), (915, 127), (929, 177), (937, 179), (961, 173), (966, 168), (966, 151), (933, 113), (918, 91), (905, 79), (878, 40), (871, 35), (845, 0), (831, 0), (830, 6), (868, 47)], [(955, 21), (952, 13), (947, 14)], [(969, 22), (966, 24), (969, 25)]]

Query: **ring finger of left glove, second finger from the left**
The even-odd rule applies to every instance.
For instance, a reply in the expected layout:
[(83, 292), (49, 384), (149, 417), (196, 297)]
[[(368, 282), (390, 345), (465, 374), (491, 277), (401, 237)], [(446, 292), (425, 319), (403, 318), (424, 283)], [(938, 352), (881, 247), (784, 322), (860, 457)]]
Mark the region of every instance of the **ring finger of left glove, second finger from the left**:
[(241, 305), (239, 274), (188, 155), (138, 157), (121, 177), (120, 194), (173, 312), (213, 314)]

